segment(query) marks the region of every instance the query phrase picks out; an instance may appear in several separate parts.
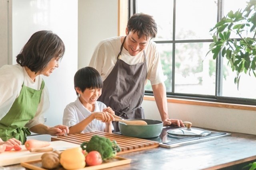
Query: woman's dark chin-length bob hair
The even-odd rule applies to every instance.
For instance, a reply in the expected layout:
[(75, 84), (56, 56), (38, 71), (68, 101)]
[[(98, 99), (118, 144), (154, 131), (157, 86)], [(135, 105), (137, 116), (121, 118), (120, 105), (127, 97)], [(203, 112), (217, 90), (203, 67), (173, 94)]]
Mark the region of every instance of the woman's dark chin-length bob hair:
[(34, 33), (17, 55), (17, 63), (33, 72), (42, 72), (53, 58), (61, 59), (65, 52), (63, 41), (52, 31)]

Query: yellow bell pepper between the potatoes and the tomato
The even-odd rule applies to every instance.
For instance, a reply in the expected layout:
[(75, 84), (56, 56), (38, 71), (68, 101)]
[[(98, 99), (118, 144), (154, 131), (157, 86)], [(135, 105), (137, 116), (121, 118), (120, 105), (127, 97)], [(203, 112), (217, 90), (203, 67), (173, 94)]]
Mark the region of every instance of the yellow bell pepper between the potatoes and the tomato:
[(84, 168), (85, 156), (81, 147), (66, 149), (60, 154), (60, 164), (67, 170)]

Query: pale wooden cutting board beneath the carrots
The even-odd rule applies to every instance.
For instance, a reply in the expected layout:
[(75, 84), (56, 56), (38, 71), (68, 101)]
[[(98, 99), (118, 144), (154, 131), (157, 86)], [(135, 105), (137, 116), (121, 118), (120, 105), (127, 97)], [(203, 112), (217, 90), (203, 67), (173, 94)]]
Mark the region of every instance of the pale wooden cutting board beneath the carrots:
[[(0, 153), (0, 166), (19, 164), (20, 162), (28, 162), (32, 160), (38, 160), (41, 158), (41, 155), (45, 152), (30, 152), (25, 148), (25, 145), (22, 145), (22, 150), (10, 150)], [(70, 143), (66, 141), (54, 141), (50, 142), (50, 146), (56, 150), (68, 149), (73, 147), (80, 147), (80, 145), (75, 143)]]

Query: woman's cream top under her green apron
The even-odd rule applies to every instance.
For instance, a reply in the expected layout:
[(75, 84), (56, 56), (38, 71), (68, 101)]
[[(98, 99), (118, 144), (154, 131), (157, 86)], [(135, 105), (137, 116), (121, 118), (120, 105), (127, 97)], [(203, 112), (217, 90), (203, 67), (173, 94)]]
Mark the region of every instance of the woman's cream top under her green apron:
[[(35, 90), (40, 90), (42, 76), (36, 76), (35, 82), (28, 76), (25, 68), (20, 64), (4, 65), (0, 68), (0, 119), (2, 119), (12, 107), (15, 99), (20, 96), (22, 84)], [(34, 119), (31, 119), (25, 127), (33, 127), (44, 123), (43, 113), (50, 107), (48, 89), (44, 86), (41, 100)]]

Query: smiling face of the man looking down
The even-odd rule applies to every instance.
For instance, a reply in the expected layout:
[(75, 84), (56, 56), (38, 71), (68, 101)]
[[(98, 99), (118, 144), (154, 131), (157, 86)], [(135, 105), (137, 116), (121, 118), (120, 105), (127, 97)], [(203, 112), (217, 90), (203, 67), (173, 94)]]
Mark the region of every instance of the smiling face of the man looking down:
[(151, 37), (146, 39), (145, 35), (139, 38), (137, 32), (134, 33), (133, 31), (130, 31), (128, 33), (128, 29), (126, 28), (126, 40), (124, 43), (124, 48), (131, 56), (136, 56), (147, 47), (150, 39)]

